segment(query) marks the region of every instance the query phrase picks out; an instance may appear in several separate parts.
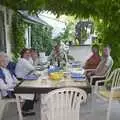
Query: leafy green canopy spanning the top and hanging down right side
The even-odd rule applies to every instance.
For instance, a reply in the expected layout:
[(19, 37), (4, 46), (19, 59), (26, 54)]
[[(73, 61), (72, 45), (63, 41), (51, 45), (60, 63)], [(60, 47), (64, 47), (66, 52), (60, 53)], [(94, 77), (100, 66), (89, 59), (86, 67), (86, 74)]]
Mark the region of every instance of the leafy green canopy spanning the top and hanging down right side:
[(100, 42), (111, 44), (114, 67), (120, 66), (120, 0), (2, 0), (0, 4), (15, 10), (48, 10), (58, 16), (93, 17), (98, 22)]

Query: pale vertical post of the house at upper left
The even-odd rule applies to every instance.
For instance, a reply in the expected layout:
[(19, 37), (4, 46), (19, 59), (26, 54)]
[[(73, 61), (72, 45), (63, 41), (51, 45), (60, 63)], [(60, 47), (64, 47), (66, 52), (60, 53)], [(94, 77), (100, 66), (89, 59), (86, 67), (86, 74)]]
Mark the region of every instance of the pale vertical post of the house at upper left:
[(11, 22), (13, 11), (0, 5), (0, 10), (4, 12), (4, 26), (5, 26), (5, 40), (6, 40), (6, 52), (11, 56)]

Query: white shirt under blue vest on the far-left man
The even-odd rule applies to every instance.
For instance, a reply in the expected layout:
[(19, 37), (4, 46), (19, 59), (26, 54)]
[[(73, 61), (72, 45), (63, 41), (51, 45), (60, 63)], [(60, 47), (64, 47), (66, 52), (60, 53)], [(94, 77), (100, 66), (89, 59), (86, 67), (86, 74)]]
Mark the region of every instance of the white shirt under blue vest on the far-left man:
[(2, 96), (6, 96), (7, 91), (14, 90), (14, 87), (16, 86), (17, 83), (17, 79), (14, 76), (11, 76), (9, 70), (7, 70), (6, 68), (1, 68), (1, 69), (5, 75), (5, 80), (7, 84), (5, 84), (4, 80), (0, 78), (0, 90)]

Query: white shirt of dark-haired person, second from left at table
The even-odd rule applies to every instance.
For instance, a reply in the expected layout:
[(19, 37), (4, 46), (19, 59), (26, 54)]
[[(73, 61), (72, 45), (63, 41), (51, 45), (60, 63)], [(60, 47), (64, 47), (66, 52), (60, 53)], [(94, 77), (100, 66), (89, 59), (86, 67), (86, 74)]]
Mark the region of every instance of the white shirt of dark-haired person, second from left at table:
[(20, 58), (15, 68), (15, 74), (18, 78), (24, 78), (30, 72), (34, 71), (34, 66), (25, 58)]

